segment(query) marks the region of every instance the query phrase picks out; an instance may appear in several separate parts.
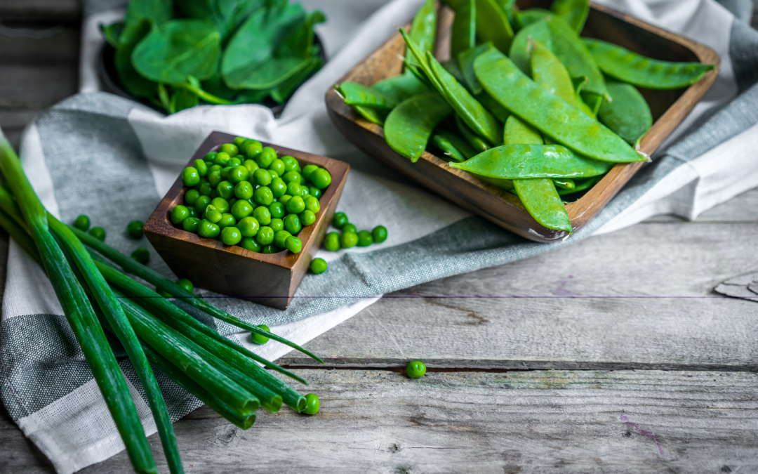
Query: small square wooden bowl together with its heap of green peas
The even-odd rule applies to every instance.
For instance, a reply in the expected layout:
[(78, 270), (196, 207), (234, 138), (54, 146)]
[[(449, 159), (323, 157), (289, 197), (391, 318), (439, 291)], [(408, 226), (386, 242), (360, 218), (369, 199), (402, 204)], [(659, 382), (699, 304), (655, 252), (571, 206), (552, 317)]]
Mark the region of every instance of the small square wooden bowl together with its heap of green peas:
[(349, 165), (213, 132), (143, 231), (196, 287), (286, 309), (321, 246)]

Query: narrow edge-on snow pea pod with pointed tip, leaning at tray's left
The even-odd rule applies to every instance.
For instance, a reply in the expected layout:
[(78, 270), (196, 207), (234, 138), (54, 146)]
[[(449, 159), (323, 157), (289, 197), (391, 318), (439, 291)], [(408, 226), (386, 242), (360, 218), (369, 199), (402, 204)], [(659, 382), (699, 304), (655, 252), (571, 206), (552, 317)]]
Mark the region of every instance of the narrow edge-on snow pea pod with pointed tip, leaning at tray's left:
[(503, 130), (502, 125), (498, 124), (496, 118), (477, 99), (474, 99), (452, 74), (445, 71), (445, 68), (437, 62), (437, 59), (434, 59), (430, 52), (423, 55), (405, 30), (400, 28), (400, 33), (406, 39), (406, 45), (418, 61), (421, 71), (424, 71), (429, 82), (437, 89), (440, 96), (443, 96), (453, 107), (453, 110), (463, 119), (465, 124), (493, 145), (503, 143), (503, 134), (500, 131)]

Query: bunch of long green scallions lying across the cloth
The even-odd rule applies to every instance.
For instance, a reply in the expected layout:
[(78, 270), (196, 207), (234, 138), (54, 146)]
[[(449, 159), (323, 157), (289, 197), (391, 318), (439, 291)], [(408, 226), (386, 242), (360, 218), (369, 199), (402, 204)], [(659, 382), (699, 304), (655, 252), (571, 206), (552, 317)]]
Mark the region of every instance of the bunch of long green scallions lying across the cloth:
[(42, 206), (2, 130), (0, 170), (5, 176), (0, 180), (0, 227), (47, 272), (136, 472), (158, 472), (158, 468), (103, 329), (121, 342), (139, 375), (171, 472), (183, 472), (183, 467), (151, 364), (243, 429), (255, 422), (258, 407), (275, 413), (283, 403), (298, 413), (305, 410), (305, 397), (258, 364), (305, 385), (307, 381), (221, 336), (157, 291), (323, 363), (321, 359), (283, 337), (211, 306), (174, 281), (58, 221)]

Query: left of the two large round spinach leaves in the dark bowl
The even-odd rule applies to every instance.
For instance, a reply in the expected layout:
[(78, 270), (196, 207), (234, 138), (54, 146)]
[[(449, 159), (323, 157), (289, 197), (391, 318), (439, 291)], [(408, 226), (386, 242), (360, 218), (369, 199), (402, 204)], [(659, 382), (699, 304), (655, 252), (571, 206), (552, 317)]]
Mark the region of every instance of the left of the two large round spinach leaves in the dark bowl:
[(221, 33), (200, 20), (171, 20), (139, 42), (132, 64), (144, 77), (182, 83), (213, 76), (221, 57)]

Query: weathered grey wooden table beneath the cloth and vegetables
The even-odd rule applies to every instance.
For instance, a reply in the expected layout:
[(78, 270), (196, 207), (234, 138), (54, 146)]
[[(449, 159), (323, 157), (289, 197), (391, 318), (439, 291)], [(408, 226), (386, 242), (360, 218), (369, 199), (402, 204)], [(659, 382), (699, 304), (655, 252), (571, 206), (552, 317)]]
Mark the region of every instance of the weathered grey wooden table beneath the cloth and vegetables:
[[(77, 4), (23, 7), (0, 2), (0, 18), (63, 23), (51, 39), (0, 36), (0, 125), (16, 143), (77, 87)], [(280, 360), (312, 381), (318, 416), (262, 413), (243, 432), (203, 407), (175, 424), (186, 470), (756, 472), (758, 304), (713, 292), (758, 268), (756, 233), (752, 190), (694, 222), (652, 218), (389, 294), (307, 345), (327, 368)], [(424, 378), (402, 375), (411, 359)], [(130, 470), (122, 453), (83, 472)], [(0, 472), (53, 472), (5, 409)]]

